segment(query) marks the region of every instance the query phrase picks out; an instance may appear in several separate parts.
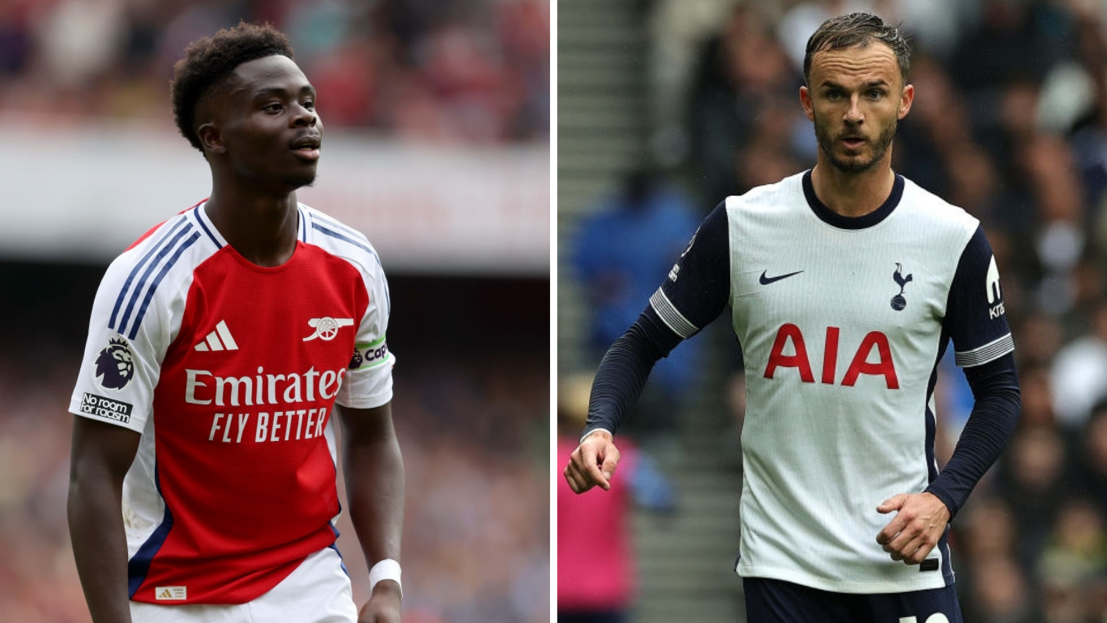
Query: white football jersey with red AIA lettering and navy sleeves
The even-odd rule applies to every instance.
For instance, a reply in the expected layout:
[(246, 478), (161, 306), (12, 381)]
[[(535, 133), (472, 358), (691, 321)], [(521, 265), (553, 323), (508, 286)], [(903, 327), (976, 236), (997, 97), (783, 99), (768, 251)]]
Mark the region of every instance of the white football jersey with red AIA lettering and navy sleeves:
[[(945, 539), (923, 565), (892, 561), (876, 539), (894, 513), (876, 509), (937, 477), (948, 340), (961, 366), (1014, 348), (977, 221), (902, 176), (883, 206), (846, 218), (807, 172), (728, 197), (725, 223), (714, 239), (728, 245), (747, 392), (737, 572), (847, 593), (951, 584)], [(691, 273), (682, 261), (651, 298), (682, 337), (702, 328)]]

